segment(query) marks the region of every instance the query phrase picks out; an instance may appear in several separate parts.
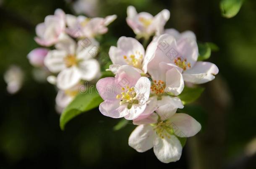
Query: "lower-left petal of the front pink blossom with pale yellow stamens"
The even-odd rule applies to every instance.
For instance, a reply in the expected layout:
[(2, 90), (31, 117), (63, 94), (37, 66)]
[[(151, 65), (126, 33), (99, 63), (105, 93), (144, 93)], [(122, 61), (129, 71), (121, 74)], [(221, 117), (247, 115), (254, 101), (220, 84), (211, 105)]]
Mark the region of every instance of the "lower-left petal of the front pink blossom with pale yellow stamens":
[(120, 106), (119, 100), (105, 100), (100, 103), (99, 111), (112, 118), (121, 118), (128, 114), (126, 106)]

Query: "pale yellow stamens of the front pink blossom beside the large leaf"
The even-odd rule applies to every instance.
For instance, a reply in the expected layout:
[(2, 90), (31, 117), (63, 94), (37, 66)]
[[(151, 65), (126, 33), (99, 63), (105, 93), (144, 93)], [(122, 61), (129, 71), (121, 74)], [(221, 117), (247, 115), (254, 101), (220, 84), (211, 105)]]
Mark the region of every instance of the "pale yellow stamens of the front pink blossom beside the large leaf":
[(129, 88), (129, 86), (126, 86), (126, 88), (122, 87), (121, 89), (121, 94), (116, 96), (116, 99), (121, 99), (120, 105), (128, 103), (127, 108), (130, 109), (133, 104), (138, 104), (134, 87)]

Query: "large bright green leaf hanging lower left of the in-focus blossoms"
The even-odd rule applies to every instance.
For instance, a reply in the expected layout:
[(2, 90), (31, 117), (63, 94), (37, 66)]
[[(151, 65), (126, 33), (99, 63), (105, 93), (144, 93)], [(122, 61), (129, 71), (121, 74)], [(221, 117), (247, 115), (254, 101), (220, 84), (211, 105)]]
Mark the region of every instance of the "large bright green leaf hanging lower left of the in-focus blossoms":
[(60, 129), (64, 130), (68, 121), (81, 113), (99, 106), (102, 101), (102, 98), (96, 91), (96, 87), (89, 88), (85, 93), (79, 93), (61, 114)]

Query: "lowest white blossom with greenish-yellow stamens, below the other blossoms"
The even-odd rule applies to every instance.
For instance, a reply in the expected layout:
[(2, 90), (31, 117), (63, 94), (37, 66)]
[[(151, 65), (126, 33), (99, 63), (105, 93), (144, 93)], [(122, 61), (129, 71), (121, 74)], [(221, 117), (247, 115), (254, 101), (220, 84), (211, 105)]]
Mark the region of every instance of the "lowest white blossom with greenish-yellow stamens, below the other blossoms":
[[(201, 125), (191, 116), (183, 113), (169, 114), (162, 118), (156, 114), (141, 123), (131, 133), (128, 144), (138, 152), (154, 150), (157, 159), (163, 163), (180, 159), (182, 145), (178, 137), (191, 137), (201, 130)], [(178, 136), (178, 137), (177, 137)]]

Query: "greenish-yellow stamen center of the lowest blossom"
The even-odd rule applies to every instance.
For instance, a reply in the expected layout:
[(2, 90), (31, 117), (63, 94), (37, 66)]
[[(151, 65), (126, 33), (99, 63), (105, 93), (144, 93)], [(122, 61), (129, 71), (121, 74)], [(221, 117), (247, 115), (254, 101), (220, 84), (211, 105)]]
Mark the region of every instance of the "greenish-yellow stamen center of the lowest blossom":
[(162, 139), (164, 139), (165, 136), (170, 139), (170, 135), (174, 134), (169, 120), (159, 121), (156, 124), (154, 130), (156, 131), (157, 135)]

